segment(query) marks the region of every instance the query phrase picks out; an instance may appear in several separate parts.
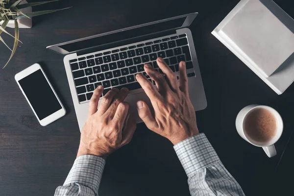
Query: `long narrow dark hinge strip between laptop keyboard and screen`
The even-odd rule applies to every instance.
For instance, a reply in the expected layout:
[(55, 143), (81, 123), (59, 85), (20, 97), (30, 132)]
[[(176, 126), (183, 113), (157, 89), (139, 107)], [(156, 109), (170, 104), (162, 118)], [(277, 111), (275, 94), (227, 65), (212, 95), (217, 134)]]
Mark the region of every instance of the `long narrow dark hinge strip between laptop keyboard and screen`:
[(97, 47), (92, 47), (90, 49), (83, 49), (83, 50), (77, 51), (76, 54), (77, 54), (77, 56), (80, 56), (80, 55), (89, 54), (89, 53), (92, 53), (92, 52), (101, 51), (101, 50), (104, 50), (104, 49), (112, 49), (112, 48), (115, 48), (115, 47), (124, 46), (124, 45), (128, 45), (128, 44), (136, 43), (136, 42), (142, 42), (144, 40), (150, 40), (150, 39), (154, 39), (154, 38), (157, 38), (157, 37), (163, 37), (163, 36), (167, 36), (167, 35), (172, 35), (172, 34), (175, 34), (175, 33), (176, 33), (176, 30), (174, 30), (174, 29), (173, 30), (168, 30), (168, 31), (162, 31), (162, 32), (159, 32), (159, 33), (152, 33), (152, 34), (149, 34), (149, 35), (144, 35), (144, 36), (135, 37), (135, 38), (127, 39), (127, 40), (122, 40), (122, 41), (119, 41), (119, 42), (113, 42), (113, 43), (110, 43), (110, 44), (105, 44), (105, 45), (101, 45), (101, 46), (97, 46)]

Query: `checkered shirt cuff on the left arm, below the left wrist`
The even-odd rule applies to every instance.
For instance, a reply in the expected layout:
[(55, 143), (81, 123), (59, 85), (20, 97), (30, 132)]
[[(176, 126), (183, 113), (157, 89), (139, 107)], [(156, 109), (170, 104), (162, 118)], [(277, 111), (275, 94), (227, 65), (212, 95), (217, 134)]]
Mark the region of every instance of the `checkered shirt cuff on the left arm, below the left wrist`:
[(98, 193), (105, 160), (95, 155), (82, 155), (75, 159), (64, 185), (80, 184)]

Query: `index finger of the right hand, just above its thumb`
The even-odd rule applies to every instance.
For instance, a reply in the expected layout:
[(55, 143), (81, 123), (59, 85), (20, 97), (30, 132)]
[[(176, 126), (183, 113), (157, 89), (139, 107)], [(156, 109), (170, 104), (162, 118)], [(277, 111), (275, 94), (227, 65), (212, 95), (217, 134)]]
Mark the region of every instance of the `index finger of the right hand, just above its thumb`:
[(161, 99), (161, 95), (155, 89), (154, 85), (142, 73), (138, 73), (136, 79), (151, 101)]

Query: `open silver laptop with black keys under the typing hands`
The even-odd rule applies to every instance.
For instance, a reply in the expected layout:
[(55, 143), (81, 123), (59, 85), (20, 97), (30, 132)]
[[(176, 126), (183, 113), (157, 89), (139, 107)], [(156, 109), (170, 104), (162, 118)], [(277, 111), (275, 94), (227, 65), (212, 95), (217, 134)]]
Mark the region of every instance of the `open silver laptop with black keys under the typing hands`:
[[(130, 111), (138, 116), (136, 102), (150, 100), (136, 81), (135, 75), (144, 72), (149, 63), (162, 73), (156, 64), (162, 57), (178, 75), (178, 64), (186, 61), (190, 99), (196, 111), (207, 106), (192, 33), (189, 27), (197, 13), (177, 16), (143, 25), (136, 25), (99, 35), (47, 47), (64, 57), (64, 65), (73, 98), (73, 105), (80, 131), (87, 117), (89, 100), (98, 85), (104, 86), (103, 96), (112, 88), (129, 89), (125, 101)], [(153, 83), (154, 84), (154, 83)]]

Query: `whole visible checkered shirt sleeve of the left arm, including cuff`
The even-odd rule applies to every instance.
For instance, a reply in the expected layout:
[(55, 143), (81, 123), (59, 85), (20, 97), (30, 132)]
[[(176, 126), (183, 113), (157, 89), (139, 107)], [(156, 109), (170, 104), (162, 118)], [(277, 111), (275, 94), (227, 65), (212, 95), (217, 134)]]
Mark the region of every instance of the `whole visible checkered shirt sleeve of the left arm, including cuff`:
[(82, 155), (75, 159), (63, 186), (54, 196), (98, 196), (105, 160), (95, 155)]

